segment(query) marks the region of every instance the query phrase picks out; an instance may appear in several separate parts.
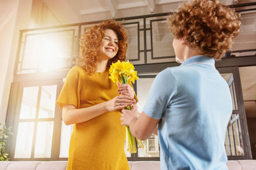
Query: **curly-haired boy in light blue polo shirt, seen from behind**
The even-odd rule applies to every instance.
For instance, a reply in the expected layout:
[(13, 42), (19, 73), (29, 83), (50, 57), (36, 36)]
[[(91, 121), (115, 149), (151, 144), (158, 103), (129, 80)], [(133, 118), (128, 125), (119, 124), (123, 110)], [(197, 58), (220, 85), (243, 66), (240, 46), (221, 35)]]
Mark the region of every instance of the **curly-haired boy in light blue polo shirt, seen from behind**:
[(147, 139), (158, 124), (161, 169), (227, 169), (225, 134), (232, 114), (227, 82), (214, 60), (230, 49), (241, 22), (214, 0), (192, 0), (168, 18), (179, 67), (157, 74), (147, 103), (122, 110), (123, 125)]

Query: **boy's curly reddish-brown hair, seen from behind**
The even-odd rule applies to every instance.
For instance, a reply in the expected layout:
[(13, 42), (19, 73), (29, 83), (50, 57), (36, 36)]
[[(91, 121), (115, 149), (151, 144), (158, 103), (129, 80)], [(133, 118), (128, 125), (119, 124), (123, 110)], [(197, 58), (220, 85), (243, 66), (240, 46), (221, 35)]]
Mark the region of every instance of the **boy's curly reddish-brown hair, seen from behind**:
[(191, 48), (220, 60), (234, 43), (240, 16), (215, 0), (191, 0), (168, 19), (169, 31)]

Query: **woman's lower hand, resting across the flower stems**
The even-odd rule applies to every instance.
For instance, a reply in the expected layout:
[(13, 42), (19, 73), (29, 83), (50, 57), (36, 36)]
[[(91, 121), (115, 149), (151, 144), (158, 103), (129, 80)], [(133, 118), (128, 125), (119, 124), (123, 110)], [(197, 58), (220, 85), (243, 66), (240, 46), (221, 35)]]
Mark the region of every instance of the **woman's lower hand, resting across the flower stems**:
[(132, 106), (132, 104), (135, 104), (136, 101), (133, 99), (133, 97), (129, 96), (116, 96), (113, 99), (106, 102), (106, 110), (108, 111), (116, 111), (116, 110), (122, 110), (126, 106)]

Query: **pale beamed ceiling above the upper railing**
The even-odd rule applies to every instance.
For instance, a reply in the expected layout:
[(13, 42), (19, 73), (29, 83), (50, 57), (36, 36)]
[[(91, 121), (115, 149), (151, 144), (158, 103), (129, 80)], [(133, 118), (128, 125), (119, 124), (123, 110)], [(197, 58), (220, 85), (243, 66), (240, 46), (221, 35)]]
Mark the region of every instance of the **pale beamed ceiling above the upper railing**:
[[(174, 11), (182, 0), (44, 0), (63, 24), (106, 20)], [(253, 0), (220, 0), (221, 4), (250, 3)]]

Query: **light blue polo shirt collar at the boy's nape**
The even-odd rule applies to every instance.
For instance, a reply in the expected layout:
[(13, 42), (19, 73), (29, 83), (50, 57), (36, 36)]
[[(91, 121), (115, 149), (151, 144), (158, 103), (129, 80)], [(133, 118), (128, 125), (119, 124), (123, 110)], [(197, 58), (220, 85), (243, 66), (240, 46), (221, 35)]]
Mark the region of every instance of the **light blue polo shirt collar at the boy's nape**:
[(205, 55), (196, 55), (185, 60), (180, 66), (186, 66), (190, 64), (205, 64), (215, 67), (215, 60), (212, 57), (207, 57)]

